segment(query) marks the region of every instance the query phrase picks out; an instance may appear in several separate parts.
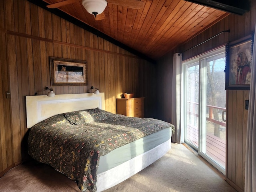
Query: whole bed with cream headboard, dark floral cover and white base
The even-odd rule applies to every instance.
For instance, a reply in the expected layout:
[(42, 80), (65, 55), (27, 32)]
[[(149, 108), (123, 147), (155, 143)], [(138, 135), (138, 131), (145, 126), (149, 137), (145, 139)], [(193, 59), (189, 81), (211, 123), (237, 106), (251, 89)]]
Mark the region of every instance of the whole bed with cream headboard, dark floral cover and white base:
[(106, 190), (171, 148), (172, 124), (104, 110), (104, 93), (26, 96), (28, 152), (75, 181)]

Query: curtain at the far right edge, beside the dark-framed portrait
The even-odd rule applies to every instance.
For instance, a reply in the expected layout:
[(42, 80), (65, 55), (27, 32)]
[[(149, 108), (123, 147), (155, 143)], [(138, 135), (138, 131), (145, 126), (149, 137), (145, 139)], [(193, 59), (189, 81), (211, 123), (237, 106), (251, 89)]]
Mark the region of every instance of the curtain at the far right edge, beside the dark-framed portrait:
[[(256, 35), (256, 29), (255, 33)], [(246, 138), (245, 192), (256, 192), (256, 37), (252, 53), (252, 74)]]

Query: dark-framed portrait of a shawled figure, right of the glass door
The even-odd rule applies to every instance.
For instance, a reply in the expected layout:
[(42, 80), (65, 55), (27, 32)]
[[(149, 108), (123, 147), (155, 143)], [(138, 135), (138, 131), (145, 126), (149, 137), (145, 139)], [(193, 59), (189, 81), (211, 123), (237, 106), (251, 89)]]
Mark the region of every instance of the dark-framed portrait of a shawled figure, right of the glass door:
[(226, 45), (226, 90), (249, 90), (253, 36)]

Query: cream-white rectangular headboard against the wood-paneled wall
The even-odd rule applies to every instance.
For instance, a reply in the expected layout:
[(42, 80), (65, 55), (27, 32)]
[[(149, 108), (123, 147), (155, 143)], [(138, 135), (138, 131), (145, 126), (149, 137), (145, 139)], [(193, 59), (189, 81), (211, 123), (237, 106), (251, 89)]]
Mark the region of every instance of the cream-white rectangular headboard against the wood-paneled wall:
[(97, 107), (105, 110), (104, 93), (26, 96), (27, 128), (56, 114)]

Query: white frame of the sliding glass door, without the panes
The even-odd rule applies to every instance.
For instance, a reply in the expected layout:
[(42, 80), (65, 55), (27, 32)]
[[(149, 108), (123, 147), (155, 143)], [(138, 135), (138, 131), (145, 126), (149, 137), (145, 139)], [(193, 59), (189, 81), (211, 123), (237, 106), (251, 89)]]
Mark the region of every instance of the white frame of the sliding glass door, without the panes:
[(190, 147), (194, 148), (198, 152), (200, 156), (202, 156), (204, 159), (206, 159), (210, 164), (212, 164), (215, 168), (217, 168), (222, 174), (226, 174), (225, 168), (220, 166), (218, 163), (216, 163), (214, 160), (209, 158), (205, 152), (206, 152), (206, 129), (202, 129), (206, 125), (206, 118), (203, 117), (203, 114), (206, 114), (206, 93), (203, 93), (200, 91), (204, 87), (206, 87), (206, 81), (207, 81), (207, 75), (206, 75), (206, 60), (207, 58), (210, 58), (212, 56), (216, 56), (218, 54), (225, 53), (226, 48), (225, 46), (222, 46), (220, 48), (217, 48), (215, 50), (212, 50), (206, 54), (203, 54), (201, 56), (198, 56), (196, 58), (186, 60), (182, 62), (182, 70), (183, 70), (183, 76), (182, 78), (184, 79), (184, 84), (183, 84), (183, 92), (186, 93), (187, 90), (187, 82), (186, 82), (186, 76), (187, 76), (187, 66), (195, 64), (199, 62), (199, 100), (198, 100), (198, 147), (194, 145), (192, 142), (187, 140), (187, 98), (186, 95), (184, 94), (182, 96), (183, 100), (183, 111), (184, 111), (184, 116), (183, 116), (183, 122), (184, 122), (184, 141), (187, 143)]

